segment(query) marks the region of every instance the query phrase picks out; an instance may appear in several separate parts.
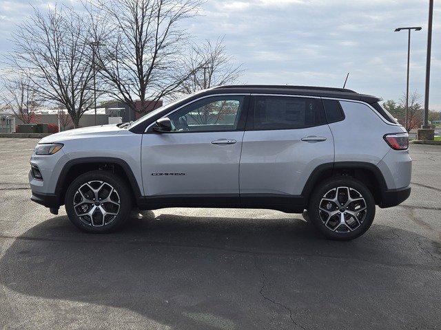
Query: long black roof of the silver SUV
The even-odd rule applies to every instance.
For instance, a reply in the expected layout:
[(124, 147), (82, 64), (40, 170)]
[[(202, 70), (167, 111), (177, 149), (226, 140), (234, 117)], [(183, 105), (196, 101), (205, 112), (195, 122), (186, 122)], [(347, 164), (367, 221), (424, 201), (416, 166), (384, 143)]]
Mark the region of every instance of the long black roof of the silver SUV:
[(290, 85), (228, 85), (214, 87), (214, 90), (224, 93), (250, 94), (287, 94), (300, 96), (318, 96), (323, 98), (345, 98), (374, 103), (382, 100), (376, 96), (358, 94), (351, 89), (317, 86), (290, 86)]

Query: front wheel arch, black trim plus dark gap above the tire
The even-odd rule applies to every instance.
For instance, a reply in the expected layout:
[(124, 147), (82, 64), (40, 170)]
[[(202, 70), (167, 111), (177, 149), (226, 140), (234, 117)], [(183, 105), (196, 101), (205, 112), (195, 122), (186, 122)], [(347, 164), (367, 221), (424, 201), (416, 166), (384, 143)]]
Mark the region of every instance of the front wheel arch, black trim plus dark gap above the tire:
[(72, 182), (75, 177), (78, 177), (83, 173), (90, 172), (91, 170), (112, 171), (112, 173), (119, 175), (119, 177), (121, 177), (121, 179), (127, 183), (132, 191), (135, 201), (138, 201), (141, 198), (141, 190), (138, 182), (136, 181), (136, 177), (134, 176), (129, 164), (127, 164), (127, 162), (125, 162), (123, 159), (116, 157), (82, 157), (71, 159), (63, 166), (63, 169), (61, 170), (57, 180), (57, 186), (55, 188), (60, 205), (63, 204), (69, 183)]

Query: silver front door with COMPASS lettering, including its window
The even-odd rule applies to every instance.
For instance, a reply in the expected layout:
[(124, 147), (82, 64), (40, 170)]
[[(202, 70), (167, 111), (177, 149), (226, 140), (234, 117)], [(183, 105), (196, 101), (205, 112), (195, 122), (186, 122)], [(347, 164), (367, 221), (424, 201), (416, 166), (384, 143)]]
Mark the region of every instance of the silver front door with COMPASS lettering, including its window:
[(147, 197), (238, 202), (239, 160), (249, 97), (209, 96), (165, 115), (170, 133), (143, 135)]

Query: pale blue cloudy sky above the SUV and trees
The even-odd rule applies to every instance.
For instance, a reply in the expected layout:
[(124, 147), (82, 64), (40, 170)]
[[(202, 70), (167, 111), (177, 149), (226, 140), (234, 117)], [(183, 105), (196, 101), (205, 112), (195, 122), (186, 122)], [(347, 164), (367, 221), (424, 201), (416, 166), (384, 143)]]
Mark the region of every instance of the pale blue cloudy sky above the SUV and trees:
[[(0, 52), (6, 54), (14, 25), (31, 4), (0, 0)], [(59, 1), (61, 2), (61, 1)], [(76, 5), (76, 0), (63, 1)], [(243, 63), (241, 83), (320, 85), (398, 99), (405, 91), (407, 33), (413, 33), (411, 90), (424, 94), (429, 0), (207, 0), (185, 23), (196, 39), (225, 36), (227, 50)], [(431, 108), (441, 111), (441, 2), (435, 1)]]

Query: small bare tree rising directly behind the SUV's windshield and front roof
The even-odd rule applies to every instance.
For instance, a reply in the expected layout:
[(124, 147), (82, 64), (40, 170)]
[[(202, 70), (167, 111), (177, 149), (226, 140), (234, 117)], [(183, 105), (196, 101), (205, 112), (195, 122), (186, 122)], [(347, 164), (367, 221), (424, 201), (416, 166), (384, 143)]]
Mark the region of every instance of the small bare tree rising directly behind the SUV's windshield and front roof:
[(227, 54), (223, 41), (223, 38), (215, 44), (205, 41), (200, 47), (193, 47), (187, 71), (194, 73), (182, 84), (182, 93), (231, 84), (243, 74), (241, 64), (233, 65), (234, 57)]

